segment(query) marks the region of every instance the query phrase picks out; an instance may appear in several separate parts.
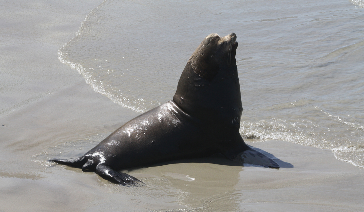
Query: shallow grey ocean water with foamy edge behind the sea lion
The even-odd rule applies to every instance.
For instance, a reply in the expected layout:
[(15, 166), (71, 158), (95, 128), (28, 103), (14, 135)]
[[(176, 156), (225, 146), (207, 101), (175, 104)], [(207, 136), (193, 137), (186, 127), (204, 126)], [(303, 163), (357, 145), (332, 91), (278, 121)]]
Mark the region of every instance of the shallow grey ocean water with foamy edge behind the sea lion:
[(172, 99), (207, 35), (235, 32), (241, 135), (331, 149), (364, 168), (363, 6), (360, 0), (106, 0), (58, 57), (96, 92), (145, 112)]

